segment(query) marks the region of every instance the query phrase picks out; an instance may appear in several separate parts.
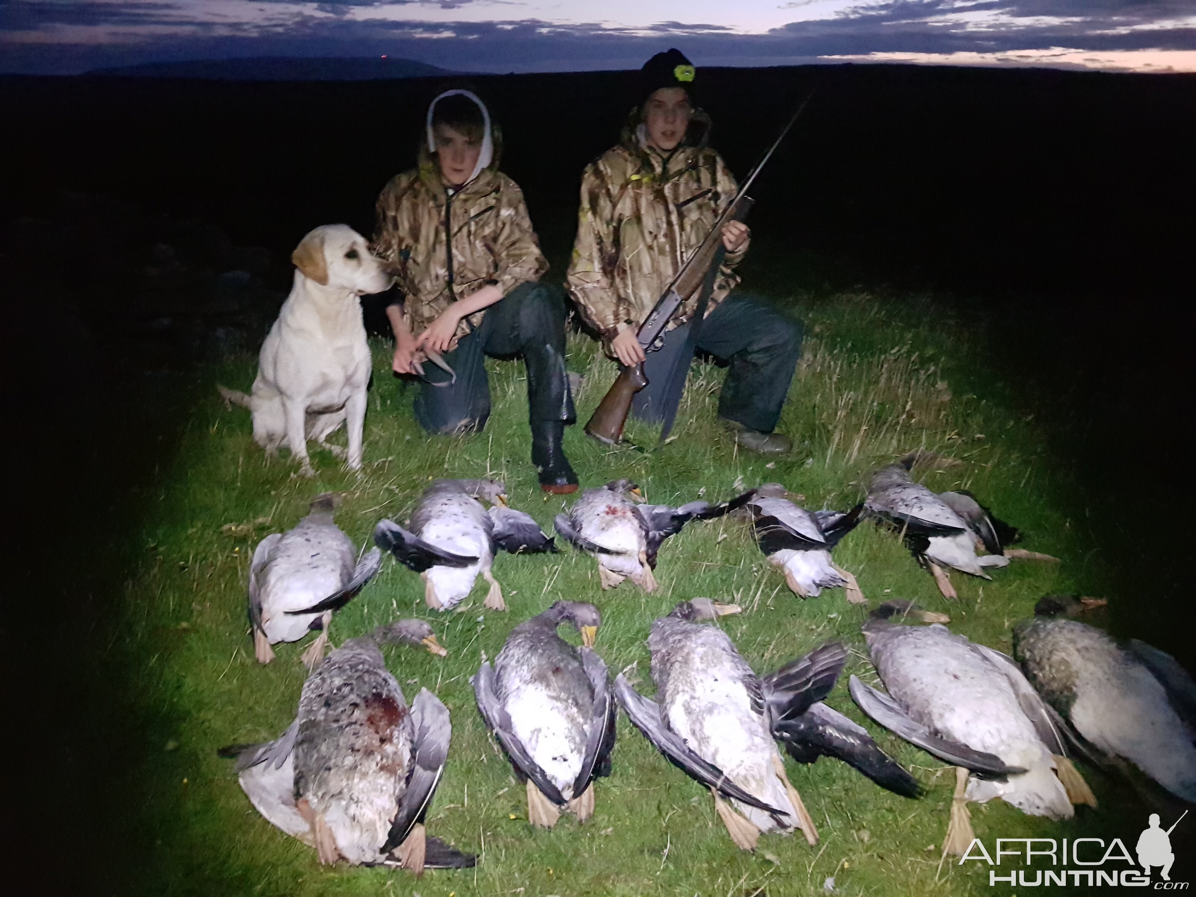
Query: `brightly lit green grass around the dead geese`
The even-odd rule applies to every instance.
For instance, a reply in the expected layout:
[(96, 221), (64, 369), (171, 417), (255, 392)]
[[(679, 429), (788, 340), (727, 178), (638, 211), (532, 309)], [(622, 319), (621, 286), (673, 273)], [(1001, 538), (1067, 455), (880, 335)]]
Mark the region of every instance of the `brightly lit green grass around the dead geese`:
[[(1026, 548), (1058, 565), (1014, 562), (984, 582), (954, 574), (960, 598), (948, 605), (893, 536), (861, 525), (837, 549), (874, 605), (916, 599), (952, 616), (952, 628), (1009, 649), (1009, 627), (1050, 591), (1100, 594), (1106, 573), (1091, 560), (1081, 502), (1066, 466), (1046, 457), (1029, 413), (1012, 404), (991, 376), (970, 366), (977, 338), (938, 306), (917, 299), (881, 301), (836, 295), (797, 303), (806, 322), (805, 355), (780, 429), (794, 452), (774, 463), (738, 453), (715, 422), (722, 370), (698, 364), (690, 376), (676, 439), (659, 450), (609, 448), (570, 428), (567, 450), (584, 487), (627, 476), (653, 502), (718, 500), (744, 486), (785, 483), (806, 505), (849, 507), (862, 499), (868, 472), (915, 448), (962, 465), (922, 471), (936, 490), (966, 487), (1020, 526)], [(621, 715), (614, 774), (599, 782), (597, 812), (586, 825), (562, 818), (554, 831), (526, 822), (523, 788), (489, 738), (469, 684), (482, 655), (493, 658), (509, 628), (557, 598), (590, 600), (605, 623), (597, 648), (612, 671), (651, 691), (645, 646), (651, 621), (677, 600), (708, 596), (737, 600), (744, 614), (724, 621), (755, 670), (764, 672), (831, 640), (853, 654), (829, 703), (862, 721), (847, 694), (847, 675), (874, 681), (860, 624), (866, 610), (831, 591), (803, 602), (785, 587), (742, 524), (687, 527), (660, 553), (652, 596), (630, 582), (603, 593), (594, 562), (567, 548), (551, 556), (500, 556), (494, 574), (509, 610), (483, 611), (484, 584), (457, 612), (423, 606), (419, 576), (388, 559), (331, 627), (334, 643), (402, 616), (431, 620), (445, 659), (388, 648), (390, 669), (411, 697), (434, 690), (453, 714), (448, 768), (428, 830), (478, 854), (476, 869), (429, 872), (416, 881), (384, 869), (321, 867), (315, 852), (266, 823), (250, 806), (216, 748), (274, 738), (294, 716), (305, 670), (303, 645), (276, 646), (260, 666), (246, 634), (245, 584), (256, 542), (293, 526), (317, 493), (346, 493), (337, 521), (359, 544), (382, 517), (405, 520), (433, 477), (502, 478), (514, 507), (548, 529), (567, 505), (545, 498), (527, 463), (524, 370), (490, 362), (494, 413), (486, 432), (429, 438), (415, 423), (414, 390), (389, 376), (389, 348), (374, 344), (374, 385), (366, 420), (365, 469), (346, 474), (316, 452), (315, 481), (293, 476), (286, 458), (269, 462), (250, 439), (249, 415), (226, 410), (215, 384), (246, 389), (255, 359), (205, 368), (172, 466), (160, 476), (144, 530), (144, 556), (127, 582), (118, 635), (110, 646), (134, 683), (133, 708), (145, 720), (145, 761), (130, 781), (109, 783), (133, 794), (132, 836), (153, 844), (148, 865), (127, 869), (122, 893), (170, 895), (843, 895), (993, 893), (988, 867), (940, 864), (953, 775), (950, 768), (871, 724), (878, 742), (926, 785), (907, 800), (873, 786), (847, 765), (823, 758), (788, 762), (819, 829), (804, 838), (764, 836), (755, 854), (737, 850), (709, 795), (666, 763)], [(614, 374), (584, 337), (570, 338), (570, 368), (587, 374), (578, 396), (582, 420)], [(633, 426), (630, 438), (653, 445)], [(234, 526), (227, 526), (233, 524)], [(999, 801), (972, 806), (980, 837), (1136, 837), (1145, 820), (1139, 798), (1122, 781), (1085, 770), (1100, 808), (1055, 824)], [(1141, 820), (1140, 820), (1141, 819)], [(830, 879), (834, 879), (831, 883)], [(1056, 889), (1058, 891), (1061, 889)]]

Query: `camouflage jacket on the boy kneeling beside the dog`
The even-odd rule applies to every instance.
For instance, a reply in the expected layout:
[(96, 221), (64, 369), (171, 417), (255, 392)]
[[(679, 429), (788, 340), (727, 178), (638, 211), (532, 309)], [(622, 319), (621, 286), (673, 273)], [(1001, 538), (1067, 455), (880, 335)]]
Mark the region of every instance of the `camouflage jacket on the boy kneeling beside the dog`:
[[(487, 283), (496, 283), (506, 295), (548, 270), (523, 191), (498, 171), (496, 127), (492, 139), (494, 160), (460, 189), (446, 189), (435, 159), (421, 144), (419, 167), (392, 178), (378, 196), (372, 249), (395, 275), (415, 335), (451, 303)], [(484, 315), (462, 318), (450, 350)]]

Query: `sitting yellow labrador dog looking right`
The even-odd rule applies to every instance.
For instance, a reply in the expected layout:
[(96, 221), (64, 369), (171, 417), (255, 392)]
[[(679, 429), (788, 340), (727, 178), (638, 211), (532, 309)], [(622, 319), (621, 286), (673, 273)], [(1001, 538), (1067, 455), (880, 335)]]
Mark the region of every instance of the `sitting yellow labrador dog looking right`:
[[(317, 227), (291, 256), (294, 286), (257, 359), (252, 395), (219, 386), (226, 402), (254, 414), (254, 441), (267, 453), (286, 440), (304, 476), (313, 476), (315, 439), (349, 470), (361, 469), (370, 347), (358, 297), (391, 285), (365, 238), (346, 225)], [(348, 422), (348, 451), (324, 441)]]

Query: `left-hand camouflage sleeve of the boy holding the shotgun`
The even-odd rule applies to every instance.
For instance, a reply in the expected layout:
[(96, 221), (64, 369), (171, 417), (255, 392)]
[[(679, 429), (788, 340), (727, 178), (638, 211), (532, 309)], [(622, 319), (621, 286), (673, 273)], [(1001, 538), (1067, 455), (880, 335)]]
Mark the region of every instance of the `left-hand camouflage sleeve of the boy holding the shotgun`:
[(615, 289), (614, 266), (618, 260), (615, 209), (606, 179), (597, 163), (581, 176), (578, 237), (569, 260), (567, 283), (586, 322), (611, 338), (622, 321)]

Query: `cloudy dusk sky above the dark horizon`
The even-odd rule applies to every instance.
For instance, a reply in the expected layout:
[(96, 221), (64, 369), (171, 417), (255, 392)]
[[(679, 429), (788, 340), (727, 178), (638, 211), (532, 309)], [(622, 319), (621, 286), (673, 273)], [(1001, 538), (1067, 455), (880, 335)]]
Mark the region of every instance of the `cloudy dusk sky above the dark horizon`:
[(475, 72), (909, 61), (1196, 72), (1192, 0), (7, 0), (0, 69), (390, 54)]

